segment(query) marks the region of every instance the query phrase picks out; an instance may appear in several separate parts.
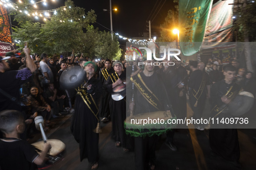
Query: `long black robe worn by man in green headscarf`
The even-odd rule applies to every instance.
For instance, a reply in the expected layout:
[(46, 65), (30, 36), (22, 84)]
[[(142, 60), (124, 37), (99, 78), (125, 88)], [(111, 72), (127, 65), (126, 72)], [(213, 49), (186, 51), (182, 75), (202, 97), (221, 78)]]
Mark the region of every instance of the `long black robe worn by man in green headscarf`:
[[(91, 78), (90, 80), (85, 79), (85, 82), (88, 82), (88, 85), (92, 85), (93, 88), (87, 92), (93, 96), (94, 101), (97, 104), (101, 93), (100, 81)], [(91, 107), (91, 109), (95, 114), (98, 113), (98, 110), (95, 107)], [(99, 119), (98, 114), (97, 118)], [(72, 118), (70, 129), (75, 140), (79, 143), (80, 161), (84, 158), (88, 158), (90, 163), (97, 162), (98, 160), (99, 134), (94, 132), (98, 123), (97, 118), (84, 103), (81, 96), (77, 94), (75, 99), (75, 113)]]

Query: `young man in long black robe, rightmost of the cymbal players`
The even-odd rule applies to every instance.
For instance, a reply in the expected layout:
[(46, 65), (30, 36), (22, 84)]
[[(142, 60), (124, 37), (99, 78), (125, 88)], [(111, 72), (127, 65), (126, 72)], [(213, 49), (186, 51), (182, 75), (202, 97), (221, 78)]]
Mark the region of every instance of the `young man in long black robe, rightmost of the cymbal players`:
[[(236, 68), (234, 66), (224, 66), (224, 79), (214, 83), (211, 88), (212, 108), (221, 107), (230, 103), (230, 92), (237, 94), (240, 91), (240, 87), (233, 82), (236, 76)], [(225, 111), (225, 110), (224, 110)], [(213, 111), (211, 117), (218, 118), (231, 118), (229, 112)], [(221, 128), (221, 129), (219, 129)], [(217, 154), (226, 160), (230, 161), (231, 164), (239, 166), (238, 160), (240, 157), (240, 148), (238, 142), (237, 129), (234, 128), (233, 124), (217, 124), (211, 125), (209, 131), (210, 146), (214, 154)]]

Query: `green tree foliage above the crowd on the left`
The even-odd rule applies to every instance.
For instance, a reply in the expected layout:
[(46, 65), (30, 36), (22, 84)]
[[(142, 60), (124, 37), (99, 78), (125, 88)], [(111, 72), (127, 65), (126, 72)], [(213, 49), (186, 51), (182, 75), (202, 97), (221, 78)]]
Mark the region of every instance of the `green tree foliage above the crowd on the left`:
[(99, 32), (91, 25), (96, 22), (94, 11), (85, 14), (85, 10), (71, 0), (67, 0), (65, 6), (45, 23), (26, 21), (29, 18), (17, 13), (15, 19), (19, 27), (13, 28), (13, 38), (21, 41), (18, 44), (21, 48), (27, 41), (34, 53), (52, 55), (74, 50), (90, 58), (110, 59), (121, 55), (117, 38), (112, 41), (109, 32)]

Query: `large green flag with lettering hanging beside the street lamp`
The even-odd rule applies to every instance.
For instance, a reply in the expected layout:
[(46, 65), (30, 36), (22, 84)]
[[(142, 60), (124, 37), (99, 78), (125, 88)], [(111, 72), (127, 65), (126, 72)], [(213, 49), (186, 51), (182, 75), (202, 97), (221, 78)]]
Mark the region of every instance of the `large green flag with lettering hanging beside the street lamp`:
[[(178, 22), (182, 54), (191, 56), (198, 52), (204, 38), (208, 13), (213, 0), (179, 0)], [(194, 43), (197, 42), (197, 43)]]

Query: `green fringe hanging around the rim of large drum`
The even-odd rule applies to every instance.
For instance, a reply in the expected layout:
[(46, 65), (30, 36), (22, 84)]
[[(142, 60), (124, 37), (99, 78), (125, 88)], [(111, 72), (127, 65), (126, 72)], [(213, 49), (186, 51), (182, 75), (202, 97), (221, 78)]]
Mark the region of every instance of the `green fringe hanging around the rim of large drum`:
[[(173, 118), (173, 119), (176, 119)], [(166, 123), (166, 124), (165, 124)], [(162, 135), (167, 131), (174, 129), (176, 124), (168, 124), (167, 121), (163, 124), (146, 124), (146, 125), (137, 125), (137, 124), (129, 124), (129, 129), (126, 129), (126, 122), (124, 122), (124, 128), (127, 135), (134, 137), (146, 137), (153, 135)]]

